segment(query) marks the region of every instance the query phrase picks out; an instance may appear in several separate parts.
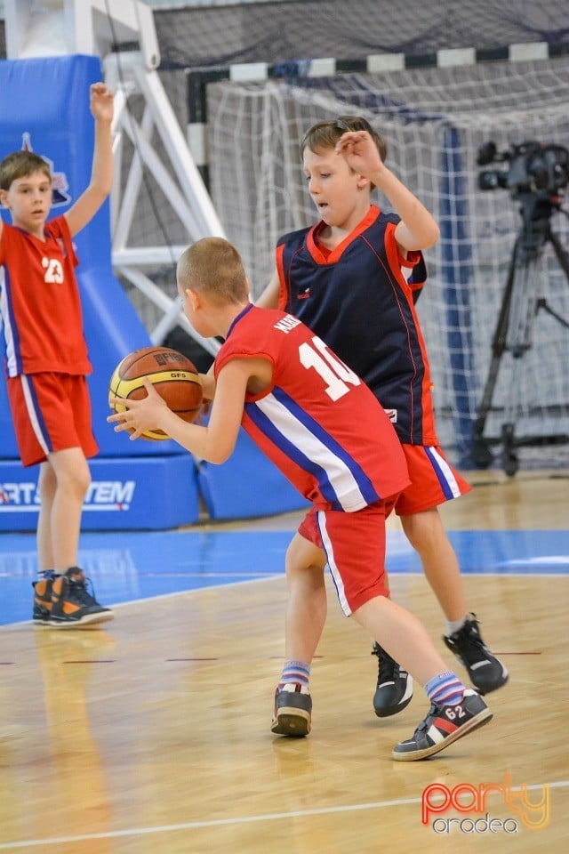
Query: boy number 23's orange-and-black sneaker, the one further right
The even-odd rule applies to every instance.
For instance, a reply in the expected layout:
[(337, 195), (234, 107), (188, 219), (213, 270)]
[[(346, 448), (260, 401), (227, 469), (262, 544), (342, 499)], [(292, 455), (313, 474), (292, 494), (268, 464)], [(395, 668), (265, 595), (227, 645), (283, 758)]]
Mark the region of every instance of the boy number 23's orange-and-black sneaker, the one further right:
[(91, 584), (79, 567), (70, 567), (64, 575), (55, 578), (49, 625), (58, 629), (81, 628), (114, 619), (111, 609), (103, 608), (95, 599), (92, 584), (92, 593), (87, 590), (87, 582)]

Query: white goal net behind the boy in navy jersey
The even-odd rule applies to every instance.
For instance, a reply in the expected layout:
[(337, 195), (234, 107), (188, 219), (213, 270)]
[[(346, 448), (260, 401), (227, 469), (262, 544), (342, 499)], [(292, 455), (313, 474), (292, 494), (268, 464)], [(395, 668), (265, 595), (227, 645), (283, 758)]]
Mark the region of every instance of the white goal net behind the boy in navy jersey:
[[(479, 189), (483, 168), (508, 172), (509, 162), (481, 167), (478, 149), (488, 141), (498, 153), (525, 141), (569, 146), (568, 87), (565, 57), (207, 88), (212, 198), (228, 239), (244, 258), (253, 295), (272, 274), (277, 239), (317, 219), (299, 152), (308, 127), (357, 114), (386, 137), (388, 165), (441, 228), (437, 246), (426, 253), (429, 280), (417, 309), (439, 438), (461, 464), (472, 461), (493, 333), (523, 222), (513, 191)], [(389, 210), (386, 198), (375, 201)], [(554, 210), (549, 222), (567, 246), (563, 213)], [(504, 423), (513, 422), (517, 437), (528, 439), (519, 454), (528, 461), (537, 455), (538, 463), (545, 455), (555, 465), (569, 433), (569, 330), (562, 322), (569, 318), (569, 281), (549, 240), (529, 270), (517, 270), (512, 305), (521, 305), (529, 318), (530, 343), (521, 355), (508, 348), (499, 360), (485, 436), (498, 446), (493, 439)], [(512, 336), (517, 333), (510, 328), (510, 342)], [(540, 448), (544, 437), (551, 440)]]

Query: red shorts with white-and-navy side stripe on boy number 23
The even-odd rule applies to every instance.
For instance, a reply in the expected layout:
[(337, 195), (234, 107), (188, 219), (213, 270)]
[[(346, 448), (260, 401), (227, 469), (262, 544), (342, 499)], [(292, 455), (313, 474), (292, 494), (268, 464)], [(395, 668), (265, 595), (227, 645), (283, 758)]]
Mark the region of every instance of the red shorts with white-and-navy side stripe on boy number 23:
[(86, 457), (98, 453), (84, 376), (22, 374), (9, 377), (7, 388), (23, 465), (44, 463), (68, 447), (81, 447)]

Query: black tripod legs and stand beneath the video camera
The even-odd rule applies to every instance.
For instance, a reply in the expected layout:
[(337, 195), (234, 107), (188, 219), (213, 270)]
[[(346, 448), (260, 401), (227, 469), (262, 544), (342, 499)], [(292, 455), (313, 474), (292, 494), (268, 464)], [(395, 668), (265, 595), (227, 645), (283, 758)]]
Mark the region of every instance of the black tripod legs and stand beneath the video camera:
[(501, 358), (509, 351), (514, 359), (514, 376), (510, 393), (517, 392), (517, 371), (525, 352), (532, 347), (533, 320), (538, 311), (546, 311), (562, 326), (569, 329), (569, 323), (551, 309), (544, 297), (537, 294), (536, 280), (539, 275), (538, 262), (542, 250), (550, 243), (557, 261), (569, 282), (569, 254), (551, 230), (551, 214), (562, 211), (555, 197), (540, 197), (533, 193), (520, 194), (522, 200), (520, 214), (523, 225), (516, 239), (509, 262), (509, 273), (501, 303), (500, 315), (492, 342), (492, 361), (486, 378), (477, 420), (474, 423), (472, 459), (480, 468), (487, 468), (493, 462), (491, 447), (501, 445), (502, 468), (513, 476), (519, 467), (516, 448), (523, 445), (561, 445), (569, 443), (569, 435), (517, 437), (516, 416), (518, 407), (512, 403), (506, 411), (506, 421), (501, 425), (501, 435), (497, 438), (485, 437), (485, 424), (492, 409), (493, 393), (498, 380)]

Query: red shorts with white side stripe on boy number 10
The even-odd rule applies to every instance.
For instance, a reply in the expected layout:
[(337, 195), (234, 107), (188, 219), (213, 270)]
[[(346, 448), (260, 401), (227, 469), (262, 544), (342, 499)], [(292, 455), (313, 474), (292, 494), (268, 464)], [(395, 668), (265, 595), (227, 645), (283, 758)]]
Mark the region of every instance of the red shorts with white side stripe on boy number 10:
[(310, 510), (298, 532), (324, 549), (346, 616), (376, 596), (389, 596), (385, 573), (385, 520), (393, 502), (378, 501), (355, 513)]

